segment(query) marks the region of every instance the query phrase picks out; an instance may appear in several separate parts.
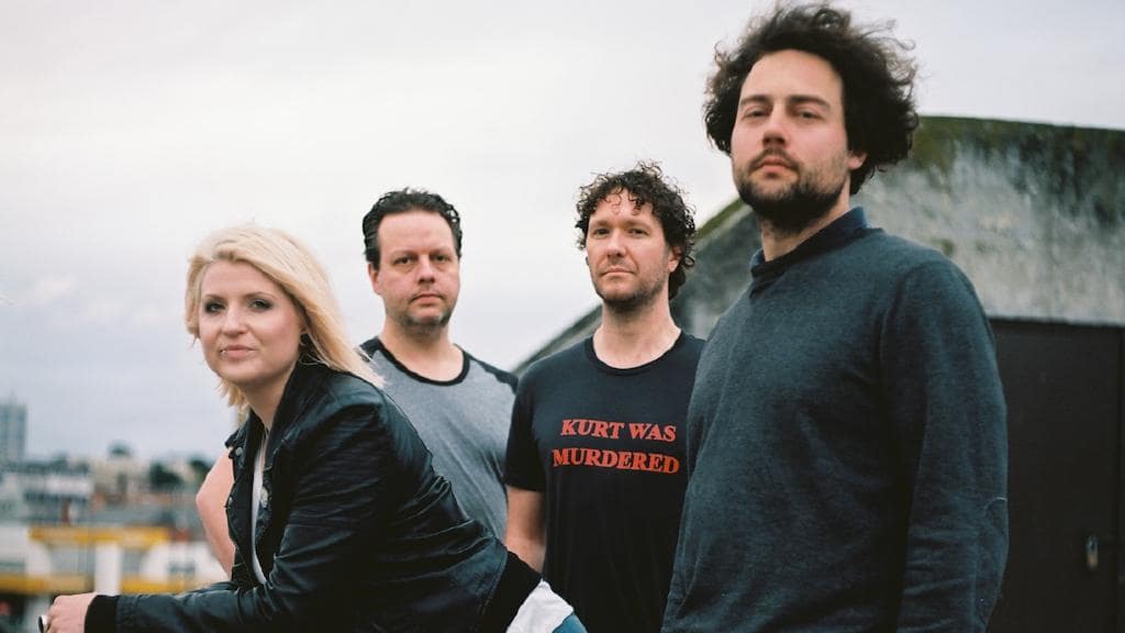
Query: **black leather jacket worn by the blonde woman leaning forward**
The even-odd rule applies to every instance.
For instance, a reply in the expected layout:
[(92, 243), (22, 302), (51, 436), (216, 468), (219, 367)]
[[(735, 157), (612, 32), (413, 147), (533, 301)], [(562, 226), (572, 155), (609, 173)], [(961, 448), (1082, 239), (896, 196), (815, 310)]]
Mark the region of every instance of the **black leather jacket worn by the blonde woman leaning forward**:
[(538, 583), (465, 516), (394, 401), (304, 359), (269, 434), (251, 535), (262, 431), (252, 413), (227, 440), (231, 581), (177, 596), (99, 596), (88, 631), (502, 631)]

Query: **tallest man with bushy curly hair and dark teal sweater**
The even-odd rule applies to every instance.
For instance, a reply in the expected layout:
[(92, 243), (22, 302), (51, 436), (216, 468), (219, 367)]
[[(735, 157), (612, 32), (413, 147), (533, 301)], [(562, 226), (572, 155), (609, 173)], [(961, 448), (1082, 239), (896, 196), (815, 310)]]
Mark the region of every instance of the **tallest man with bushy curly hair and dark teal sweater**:
[(696, 374), (667, 632), (987, 626), (1007, 555), (991, 331), (953, 264), (849, 205), (910, 148), (901, 50), (814, 5), (717, 56), (708, 133), (763, 248)]

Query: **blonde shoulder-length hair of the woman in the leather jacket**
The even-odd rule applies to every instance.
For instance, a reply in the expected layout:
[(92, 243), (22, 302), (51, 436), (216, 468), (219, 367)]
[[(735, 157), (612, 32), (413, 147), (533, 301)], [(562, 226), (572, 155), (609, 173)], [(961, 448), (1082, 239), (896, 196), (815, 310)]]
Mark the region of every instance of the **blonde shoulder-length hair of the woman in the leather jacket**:
[[(246, 224), (216, 231), (204, 239), (188, 260), (188, 284), (183, 301), (183, 322), (188, 332), (199, 338), (199, 303), (204, 275), (216, 261), (249, 264), (269, 277), (292, 300), (305, 324), (303, 356), (338, 372), (354, 374), (371, 384), (382, 380), (350, 342), (344, 332), (340, 309), (324, 268), (312, 252), (291, 235), (277, 229)], [(246, 408), (242, 391), (219, 378), (219, 391), (232, 407)]]

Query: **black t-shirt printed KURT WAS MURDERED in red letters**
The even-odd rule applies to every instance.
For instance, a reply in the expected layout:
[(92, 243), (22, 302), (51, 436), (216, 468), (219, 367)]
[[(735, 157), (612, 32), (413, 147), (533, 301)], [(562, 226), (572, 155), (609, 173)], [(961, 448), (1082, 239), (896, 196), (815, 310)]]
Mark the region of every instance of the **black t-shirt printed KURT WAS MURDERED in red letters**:
[(702, 347), (681, 333), (656, 360), (616, 369), (586, 339), (520, 380), (505, 481), (546, 494), (543, 578), (592, 633), (660, 628)]

